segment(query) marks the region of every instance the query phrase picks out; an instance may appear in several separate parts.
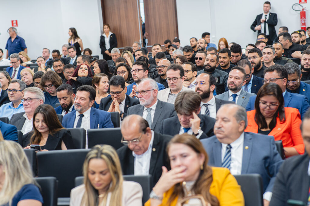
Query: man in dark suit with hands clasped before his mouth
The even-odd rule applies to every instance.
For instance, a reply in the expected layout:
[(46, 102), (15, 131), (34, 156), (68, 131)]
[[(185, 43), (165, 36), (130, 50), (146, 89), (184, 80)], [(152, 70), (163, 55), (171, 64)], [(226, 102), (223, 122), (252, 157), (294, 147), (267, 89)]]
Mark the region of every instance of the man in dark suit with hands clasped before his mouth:
[(109, 94), (111, 96), (100, 100), (99, 109), (108, 112), (117, 111), (122, 121), (127, 116), (128, 108), (139, 104), (139, 100), (126, 95), (127, 87), (125, 85), (125, 79), (122, 76), (113, 76), (109, 81), (109, 85)]

